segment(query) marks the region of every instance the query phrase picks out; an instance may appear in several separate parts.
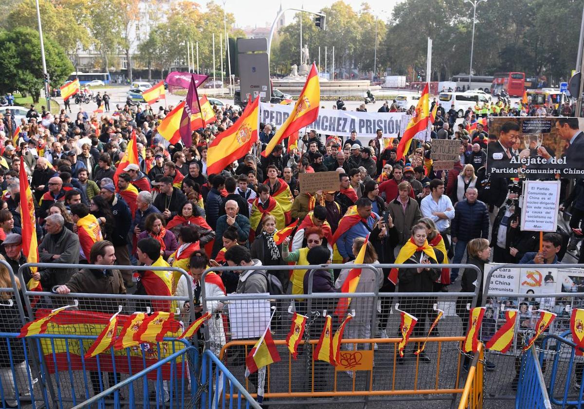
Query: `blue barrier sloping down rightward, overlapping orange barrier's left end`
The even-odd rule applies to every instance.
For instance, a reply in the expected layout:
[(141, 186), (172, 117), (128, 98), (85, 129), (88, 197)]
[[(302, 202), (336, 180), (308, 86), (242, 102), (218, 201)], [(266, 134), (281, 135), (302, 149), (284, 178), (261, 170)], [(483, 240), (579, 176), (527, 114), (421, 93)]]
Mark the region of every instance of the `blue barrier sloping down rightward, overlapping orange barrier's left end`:
[(242, 400), (246, 409), (262, 409), (213, 352), (207, 349), (201, 360), (201, 409), (241, 408)]

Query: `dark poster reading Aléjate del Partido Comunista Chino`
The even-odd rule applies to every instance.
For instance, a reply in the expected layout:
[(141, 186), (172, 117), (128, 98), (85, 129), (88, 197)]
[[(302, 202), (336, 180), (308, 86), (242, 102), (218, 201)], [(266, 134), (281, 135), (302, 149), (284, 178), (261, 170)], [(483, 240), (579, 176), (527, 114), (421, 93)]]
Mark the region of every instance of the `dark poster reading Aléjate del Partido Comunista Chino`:
[(489, 123), (486, 168), (491, 177), (584, 178), (584, 119), (498, 117)]

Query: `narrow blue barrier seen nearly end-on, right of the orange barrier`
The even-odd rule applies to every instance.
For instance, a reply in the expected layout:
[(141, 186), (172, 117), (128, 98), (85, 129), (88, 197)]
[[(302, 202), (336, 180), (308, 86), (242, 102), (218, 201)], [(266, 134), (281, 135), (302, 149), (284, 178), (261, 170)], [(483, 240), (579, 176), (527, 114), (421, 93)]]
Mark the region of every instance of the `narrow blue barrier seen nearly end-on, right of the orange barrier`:
[(523, 352), (521, 356), (515, 409), (551, 409), (550, 398), (545, 389), (544, 376), (541, 373), (534, 346)]

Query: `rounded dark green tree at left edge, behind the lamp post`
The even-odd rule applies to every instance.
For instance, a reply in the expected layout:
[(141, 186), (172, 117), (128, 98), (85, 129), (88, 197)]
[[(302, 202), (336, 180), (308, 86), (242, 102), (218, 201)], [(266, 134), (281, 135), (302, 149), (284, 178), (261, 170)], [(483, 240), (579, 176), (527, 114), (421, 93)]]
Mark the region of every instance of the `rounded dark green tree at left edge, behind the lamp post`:
[[(50, 85), (58, 87), (74, 70), (65, 50), (52, 39), (44, 38), (44, 53)], [(0, 93), (26, 91), (39, 102), (43, 88), (43, 64), (39, 33), (27, 27), (0, 32)]]

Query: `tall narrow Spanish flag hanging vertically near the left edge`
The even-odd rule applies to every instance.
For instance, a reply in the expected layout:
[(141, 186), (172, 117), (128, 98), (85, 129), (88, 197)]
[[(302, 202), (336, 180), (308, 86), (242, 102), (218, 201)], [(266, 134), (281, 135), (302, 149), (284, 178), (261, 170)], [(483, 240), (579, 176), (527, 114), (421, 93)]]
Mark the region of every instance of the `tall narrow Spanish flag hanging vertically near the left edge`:
[[(26, 176), (25, 161), (20, 161), (18, 178), (20, 181), (20, 214), (22, 215), (22, 221), (20, 222), (22, 224), (22, 254), (25, 255), (27, 262), (36, 263), (39, 261), (36, 216), (34, 215), (33, 193), (30, 190), (29, 179)], [(36, 267), (30, 268), (30, 272), (33, 274), (36, 271)], [(40, 286), (40, 283), (38, 283), (38, 286)], [(35, 285), (33, 288), (37, 288), (38, 286)], [(29, 290), (33, 288), (29, 287)], [(39, 291), (41, 290), (42, 287)]]

